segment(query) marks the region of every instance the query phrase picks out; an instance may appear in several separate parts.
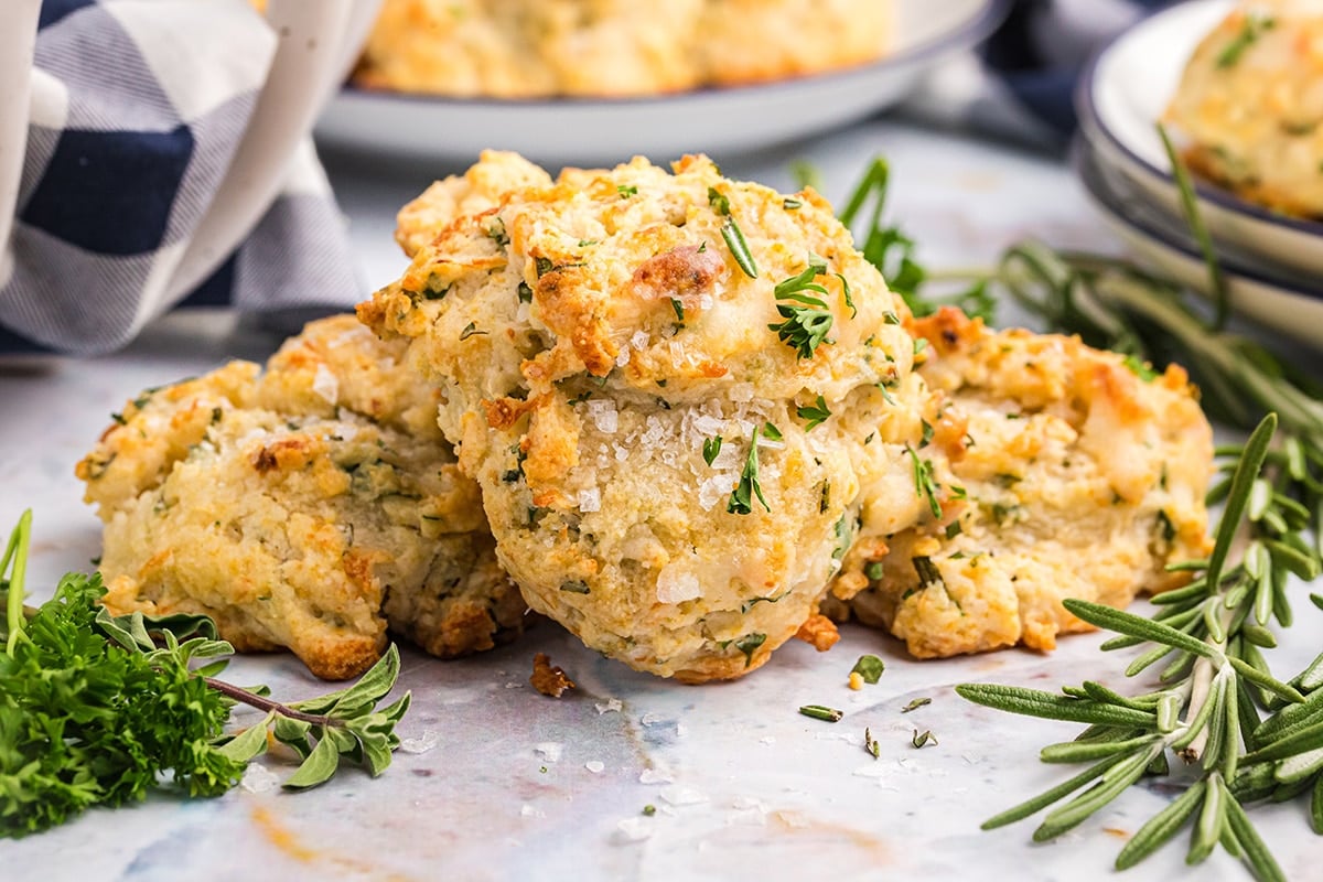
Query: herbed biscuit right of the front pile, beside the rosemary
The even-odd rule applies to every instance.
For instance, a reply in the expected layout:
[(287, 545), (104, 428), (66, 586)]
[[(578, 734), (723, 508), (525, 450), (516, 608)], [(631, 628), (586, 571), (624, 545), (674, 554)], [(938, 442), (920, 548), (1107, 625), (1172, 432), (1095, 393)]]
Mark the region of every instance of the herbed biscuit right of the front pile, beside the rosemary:
[(931, 341), (919, 373), (938, 397), (917, 454), (941, 517), (852, 550), (837, 592), (867, 586), (856, 618), (921, 659), (1052, 649), (1089, 629), (1062, 599), (1123, 607), (1207, 554), (1212, 430), (1184, 370), (1144, 381), (1076, 337), (992, 332), (955, 309), (912, 331)]

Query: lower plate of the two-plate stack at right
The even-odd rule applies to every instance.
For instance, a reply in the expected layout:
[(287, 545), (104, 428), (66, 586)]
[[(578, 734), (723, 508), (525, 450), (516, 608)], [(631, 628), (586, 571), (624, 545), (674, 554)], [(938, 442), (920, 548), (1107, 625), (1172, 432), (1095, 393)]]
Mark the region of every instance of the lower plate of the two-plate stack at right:
[[(1174, 282), (1209, 294), (1208, 268), (1181, 221), (1156, 210), (1114, 171), (1109, 175), (1084, 141), (1076, 143), (1074, 163), (1089, 201), (1140, 259)], [(1218, 261), (1237, 315), (1323, 346), (1323, 288), (1283, 279), (1221, 247)]]

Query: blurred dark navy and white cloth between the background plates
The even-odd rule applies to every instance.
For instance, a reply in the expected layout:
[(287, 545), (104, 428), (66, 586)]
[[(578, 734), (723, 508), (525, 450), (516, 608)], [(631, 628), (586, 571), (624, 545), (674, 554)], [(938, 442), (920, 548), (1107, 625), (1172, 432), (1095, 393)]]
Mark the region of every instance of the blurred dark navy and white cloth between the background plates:
[(905, 103), (914, 118), (1060, 151), (1074, 85), (1109, 40), (1172, 0), (1016, 0), (976, 53), (934, 71)]

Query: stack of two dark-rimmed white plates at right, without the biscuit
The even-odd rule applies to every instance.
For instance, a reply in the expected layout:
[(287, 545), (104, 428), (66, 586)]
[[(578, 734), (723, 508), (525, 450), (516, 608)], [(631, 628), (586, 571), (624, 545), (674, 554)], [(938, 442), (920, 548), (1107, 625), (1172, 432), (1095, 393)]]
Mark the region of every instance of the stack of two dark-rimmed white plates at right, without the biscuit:
[[(1185, 62), (1233, 7), (1195, 0), (1151, 16), (1098, 54), (1076, 95), (1074, 160), (1103, 218), (1159, 271), (1208, 291), (1158, 134)], [(1323, 346), (1323, 223), (1277, 214), (1215, 184), (1196, 185), (1232, 304), (1263, 325)]]

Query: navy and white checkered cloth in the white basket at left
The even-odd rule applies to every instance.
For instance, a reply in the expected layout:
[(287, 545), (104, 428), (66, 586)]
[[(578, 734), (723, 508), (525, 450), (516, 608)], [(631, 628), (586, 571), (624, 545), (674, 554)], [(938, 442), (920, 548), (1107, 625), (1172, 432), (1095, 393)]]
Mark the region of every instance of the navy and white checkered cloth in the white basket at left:
[[(176, 271), (277, 49), (242, 0), (46, 0), (13, 231), (0, 243), (0, 353), (123, 346), (179, 304), (344, 308), (361, 288), (311, 141), (210, 278)], [(3, 155), (3, 145), (0, 145)], [(196, 274), (194, 274), (196, 276)]]

